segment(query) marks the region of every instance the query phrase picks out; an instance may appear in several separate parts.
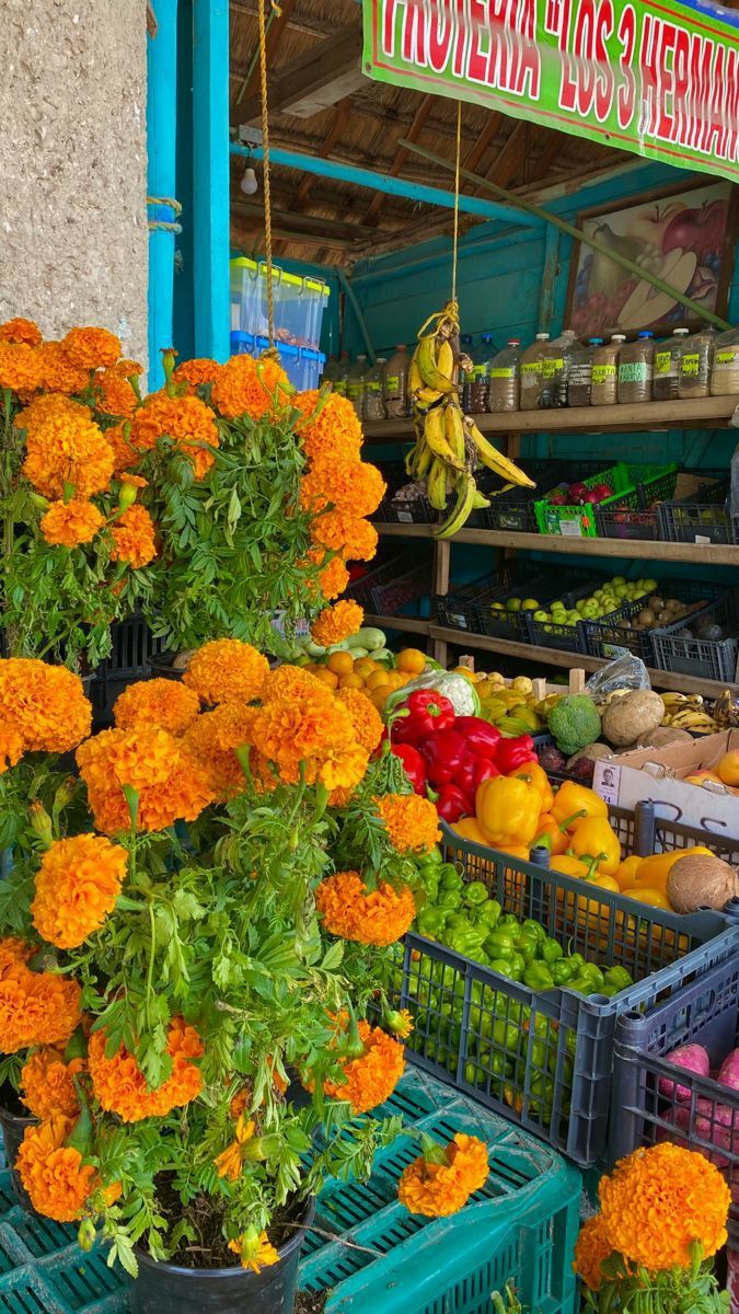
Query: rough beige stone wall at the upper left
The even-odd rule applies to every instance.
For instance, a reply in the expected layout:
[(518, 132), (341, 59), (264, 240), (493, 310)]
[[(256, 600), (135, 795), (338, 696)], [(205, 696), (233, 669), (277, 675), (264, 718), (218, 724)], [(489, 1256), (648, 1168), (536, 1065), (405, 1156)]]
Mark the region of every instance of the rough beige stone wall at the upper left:
[(146, 363), (146, 0), (0, 0), (0, 319)]

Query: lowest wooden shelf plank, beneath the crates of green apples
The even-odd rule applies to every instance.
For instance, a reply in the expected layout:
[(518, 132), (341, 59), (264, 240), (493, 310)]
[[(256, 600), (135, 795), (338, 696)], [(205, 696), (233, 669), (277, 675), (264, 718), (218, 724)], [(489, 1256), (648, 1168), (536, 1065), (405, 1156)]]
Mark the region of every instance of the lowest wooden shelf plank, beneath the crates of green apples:
[[(454, 644), (456, 648), (477, 648), (483, 652), (500, 653), (501, 657), (518, 657), (521, 661), (540, 662), (542, 666), (563, 666), (565, 670), (572, 668), (600, 670), (601, 666), (606, 665), (602, 657), (585, 657), (583, 653), (568, 653), (559, 648), (534, 648), (531, 644), (519, 644), (510, 639), (490, 639), (488, 635), (447, 629), (430, 620), (414, 620), (409, 616), (366, 616), (364, 623), (377, 625), (380, 629), (422, 633), (437, 643)], [(705, 698), (717, 698), (727, 687), (718, 679), (696, 679), (693, 675), (677, 675), (669, 670), (650, 669), (648, 675), (655, 689), (671, 689), (681, 694), (702, 694)], [(730, 685), (728, 687), (736, 689), (738, 686)]]

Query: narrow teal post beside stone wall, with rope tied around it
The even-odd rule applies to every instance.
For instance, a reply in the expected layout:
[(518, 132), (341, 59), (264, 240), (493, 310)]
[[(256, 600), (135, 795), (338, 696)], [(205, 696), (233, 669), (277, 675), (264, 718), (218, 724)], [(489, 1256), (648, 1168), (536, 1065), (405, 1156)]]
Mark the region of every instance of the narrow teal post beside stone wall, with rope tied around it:
[[(175, 198), (178, 124), (178, 0), (156, 0), (156, 35), (146, 43), (147, 188), (150, 197)], [(167, 205), (149, 205), (149, 219), (172, 222)], [(149, 388), (164, 381), (160, 351), (172, 346), (175, 234), (149, 231)]]

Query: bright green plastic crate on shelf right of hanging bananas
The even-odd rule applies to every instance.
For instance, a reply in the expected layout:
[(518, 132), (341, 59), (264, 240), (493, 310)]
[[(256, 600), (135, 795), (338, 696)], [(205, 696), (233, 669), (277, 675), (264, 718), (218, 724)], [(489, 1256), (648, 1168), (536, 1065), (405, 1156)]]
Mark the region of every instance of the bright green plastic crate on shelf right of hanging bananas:
[[(618, 461), (600, 474), (590, 474), (580, 482), (588, 489), (608, 484), (613, 497), (598, 502), (602, 511), (638, 511), (656, 499), (672, 497), (677, 480), (677, 465), (626, 465)], [(571, 481), (572, 482), (572, 481)], [(558, 485), (567, 491), (567, 485)], [(556, 491), (550, 489), (550, 493)], [(552, 506), (546, 498), (534, 503), (539, 533), (564, 533), (577, 539), (597, 539), (598, 524), (594, 506)]]

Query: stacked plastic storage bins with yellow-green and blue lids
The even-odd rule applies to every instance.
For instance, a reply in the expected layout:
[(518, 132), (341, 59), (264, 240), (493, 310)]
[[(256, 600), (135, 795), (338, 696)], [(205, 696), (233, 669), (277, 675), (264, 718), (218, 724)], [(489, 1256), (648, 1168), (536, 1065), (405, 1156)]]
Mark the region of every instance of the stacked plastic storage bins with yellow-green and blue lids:
[[(272, 267), (275, 342), (283, 369), (301, 390), (318, 386), (326, 364), (318, 346), (327, 300), (325, 283)], [(260, 356), (268, 346), (267, 265), (238, 256), (231, 260), (231, 355)]]

